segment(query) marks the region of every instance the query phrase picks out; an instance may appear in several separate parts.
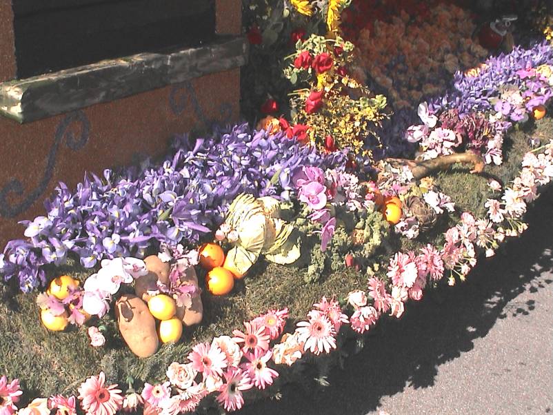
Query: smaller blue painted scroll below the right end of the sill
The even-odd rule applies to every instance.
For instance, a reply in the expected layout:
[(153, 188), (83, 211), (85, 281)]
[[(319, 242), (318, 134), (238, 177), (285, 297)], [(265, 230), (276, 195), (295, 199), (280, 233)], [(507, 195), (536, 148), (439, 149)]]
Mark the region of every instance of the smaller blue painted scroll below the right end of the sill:
[(180, 115), (187, 109), (188, 104), (192, 106), (192, 112), (198, 119), (199, 124), (206, 129), (212, 128), (214, 124), (227, 124), (232, 121), (232, 104), (226, 102), (219, 105), (219, 118), (209, 119), (199, 103), (197, 92), (192, 82), (185, 81), (174, 85), (169, 93), (169, 107), (175, 115)]

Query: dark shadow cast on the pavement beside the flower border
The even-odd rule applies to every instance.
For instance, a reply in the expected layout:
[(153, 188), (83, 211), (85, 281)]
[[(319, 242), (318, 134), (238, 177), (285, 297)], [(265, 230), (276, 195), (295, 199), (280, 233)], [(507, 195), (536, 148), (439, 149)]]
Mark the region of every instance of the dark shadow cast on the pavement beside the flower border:
[(534, 309), (534, 301), (510, 303), (513, 298), (553, 282), (553, 277), (537, 281), (553, 270), (553, 188), (528, 212), (527, 223), (525, 234), (503, 252), (481, 258), (465, 283), (410, 303), (399, 321), (381, 321), (363, 351), (350, 356), (343, 370), (330, 372), (330, 387), (316, 387), (312, 379), (286, 385), (280, 401), (254, 403), (241, 414), (366, 414), (382, 396), (398, 394), (405, 385), (434, 385), (439, 365), (472, 350), (473, 341), (485, 337), (497, 319)]

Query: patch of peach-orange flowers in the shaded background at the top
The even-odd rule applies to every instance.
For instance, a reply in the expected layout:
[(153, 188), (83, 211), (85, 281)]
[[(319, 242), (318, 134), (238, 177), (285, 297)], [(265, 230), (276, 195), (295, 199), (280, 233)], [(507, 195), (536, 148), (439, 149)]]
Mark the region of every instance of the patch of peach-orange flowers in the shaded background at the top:
[(428, 14), (402, 11), (390, 23), (376, 21), (359, 33), (362, 65), (387, 90), (395, 110), (416, 108), (423, 96), (443, 91), (457, 70), (472, 68), (487, 56), (475, 43), (470, 13), (440, 4)]

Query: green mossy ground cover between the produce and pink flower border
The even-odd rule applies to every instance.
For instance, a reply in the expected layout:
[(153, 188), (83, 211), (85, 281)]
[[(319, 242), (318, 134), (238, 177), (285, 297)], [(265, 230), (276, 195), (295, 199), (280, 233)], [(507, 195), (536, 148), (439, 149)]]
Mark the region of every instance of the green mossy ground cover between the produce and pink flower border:
[[(553, 119), (526, 123), (520, 130), (512, 130), (505, 140), (505, 160), (501, 166), (487, 166), (485, 174), (474, 175), (469, 168), (455, 165), (436, 176), (441, 190), (452, 196), (457, 213), (469, 211), (484, 216), (486, 199), (492, 196), (488, 179), (495, 178), (508, 183), (520, 169), (522, 156), (531, 150), (530, 137), (538, 137), (545, 143), (553, 136)], [(390, 239), (372, 257), (376, 273), (383, 275), (388, 259), (397, 250), (416, 249), (427, 243), (439, 244), (443, 231), (455, 222), (444, 217), (430, 232), (410, 241), (391, 235)], [(309, 252), (303, 252), (309, 257)], [(305, 263), (305, 258), (303, 262)], [(376, 266), (374, 266), (376, 265)], [(60, 274), (70, 274), (84, 281), (92, 272), (84, 270), (74, 261), (58, 268), (49, 268), (50, 279)], [(163, 345), (150, 358), (137, 358), (123, 343), (117, 330), (113, 312), (94, 324), (107, 327), (108, 343), (104, 347), (90, 346), (86, 327), (71, 326), (67, 332), (48, 332), (40, 323), (39, 307), (35, 294), (15, 294), (8, 286), (0, 287), (0, 373), (9, 378), (20, 378), (26, 397), (49, 396), (54, 393), (74, 393), (79, 384), (92, 374), (103, 370), (108, 378), (125, 385), (125, 378), (132, 376), (150, 383), (162, 381), (165, 370), (172, 361), (184, 361), (195, 343), (210, 341), (214, 336), (231, 334), (242, 322), (272, 307), (288, 307), (290, 330), (294, 322), (303, 318), (312, 304), (321, 296), (344, 298), (350, 290), (365, 288), (367, 275), (345, 268), (323, 276), (316, 283), (305, 283), (305, 268), (281, 266), (259, 261), (232, 294), (216, 297), (204, 292), (204, 318), (201, 325), (188, 328), (177, 345)], [(200, 275), (201, 279), (201, 275)], [(335, 358), (335, 357), (334, 357)], [(327, 358), (319, 361), (325, 362)], [(285, 377), (285, 376), (283, 376)], [(123, 386), (123, 389), (125, 387)], [(24, 399), (26, 401), (26, 399)]]

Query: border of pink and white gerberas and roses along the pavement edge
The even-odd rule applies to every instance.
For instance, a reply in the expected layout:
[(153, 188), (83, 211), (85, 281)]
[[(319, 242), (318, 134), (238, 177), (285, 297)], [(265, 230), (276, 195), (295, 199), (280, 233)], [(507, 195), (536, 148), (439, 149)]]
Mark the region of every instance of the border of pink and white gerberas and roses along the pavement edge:
[[(271, 366), (292, 366), (305, 354), (317, 356), (331, 352), (337, 347), (337, 334), (346, 327), (363, 333), (370, 330), (383, 314), (399, 318), (405, 312), (405, 301), (408, 298), (421, 300), (428, 283), (444, 277), (450, 285), (455, 283), (456, 277), (464, 280), (476, 264), (479, 250), (491, 256), (506, 236), (516, 236), (525, 230), (526, 225), (521, 219), (526, 203), (536, 199), (539, 187), (552, 179), (553, 141), (525, 154), (519, 176), (505, 188), (501, 197), (487, 201), (485, 218), (475, 219), (465, 212), (461, 214), (459, 224), (445, 232), (441, 249), (428, 245), (421, 248), (419, 254), (396, 253), (390, 259), (387, 279), (371, 276), (366, 290), (348, 294), (345, 300), (349, 310), (343, 310), (334, 299), (323, 297), (314, 304), (308, 318), (296, 324), (294, 332), (285, 334), (282, 333), (288, 310), (270, 310), (245, 322), (243, 330), (234, 330), (232, 337), (219, 336), (211, 343), (195, 345), (184, 363), (174, 362), (168, 367), (167, 381), (153, 385), (145, 383), (141, 394), (130, 386), (128, 393), (123, 395), (119, 385), (108, 385), (105, 374), (101, 372), (81, 383), (78, 396), (35, 398), (18, 411), (17, 403), (23, 393), (19, 381), (9, 381), (2, 376), (0, 407), (6, 414), (49, 414), (52, 410), (57, 414), (76, 414), (78, 400), (89, 414), (115, 414), (118, 410), (130, 412), (138, 407), (143, 407), (148, 413), (178, 414), (194, 411), (205, 396), (215, 394), (226, 410), (240, 409), (245, 391), (265, 389), (279, 376)], [(497, 189), (495, 185), (493, 187)], [(108, 263), (105, 266), (119, 267), (121, 264), (126, 264), (126, 270), (130, 271), (127, 274), (129, 279), (136, 278), (137, 274), (141, 274), (139, 278), (147, 275), (145, 262), (136, 260), (122, 260), (117, 261), (117, 265)], [(63, 281), (69, 280), (54, 283), (50, 295), (63, 297), (78, 286), (58, 287)], [(113, 290), (116, 286), (114, 281)]]

